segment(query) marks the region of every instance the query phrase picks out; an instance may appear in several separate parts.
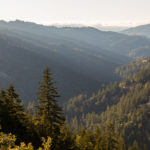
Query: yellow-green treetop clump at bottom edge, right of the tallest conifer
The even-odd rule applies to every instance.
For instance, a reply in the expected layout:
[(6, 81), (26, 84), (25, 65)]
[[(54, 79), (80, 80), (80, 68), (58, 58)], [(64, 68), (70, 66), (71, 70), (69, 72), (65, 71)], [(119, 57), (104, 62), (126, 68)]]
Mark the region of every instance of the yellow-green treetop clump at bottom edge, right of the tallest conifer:
[(114, 126), (108, 123), (104, 130), (81, 130), (76, 137), (76, 145), (80, 150), (125, 150), (124, 140), (120, 140)]

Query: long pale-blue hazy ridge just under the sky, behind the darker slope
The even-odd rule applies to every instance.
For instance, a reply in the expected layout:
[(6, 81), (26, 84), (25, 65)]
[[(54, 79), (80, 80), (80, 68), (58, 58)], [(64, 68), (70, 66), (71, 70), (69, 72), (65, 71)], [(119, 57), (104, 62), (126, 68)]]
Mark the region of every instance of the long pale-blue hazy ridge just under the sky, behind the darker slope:
[(55, 27), (43, 26), (20, 20), (12, 22), (0, 22), (0, 26), (10, 30), (20, 30), (36, 33), (53, 39), (69, 39), (70, 41), (85, 42), (99, 48), (107, 49), (122, 55), (128, 55), (130, 51), (144, 46), (150, 46), (150, 40), (140, 36), (128, 36), (116, 32), (100, 31), (92, 27)]

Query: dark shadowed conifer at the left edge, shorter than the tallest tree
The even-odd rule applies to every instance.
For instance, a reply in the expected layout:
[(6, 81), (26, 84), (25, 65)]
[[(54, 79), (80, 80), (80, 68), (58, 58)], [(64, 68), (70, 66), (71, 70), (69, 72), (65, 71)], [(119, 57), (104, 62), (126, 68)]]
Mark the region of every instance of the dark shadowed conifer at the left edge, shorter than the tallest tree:
[(17, 142), (28, 141), (30, 139), (29, 134), (27, 134), (29, 118), (19, 95), (15, 92), (14, 86), (10, 84), (6, 92), (2, 90), (0, 97), (2, 131), (15, 134), (18, 137)]

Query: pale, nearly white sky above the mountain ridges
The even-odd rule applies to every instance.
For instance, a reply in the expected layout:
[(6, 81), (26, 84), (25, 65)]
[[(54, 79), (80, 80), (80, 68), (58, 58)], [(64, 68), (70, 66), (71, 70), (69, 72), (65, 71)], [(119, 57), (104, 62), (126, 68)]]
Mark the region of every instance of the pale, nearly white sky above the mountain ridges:
[(0, 20), (40, 24), (150, 23), (150, 0), (0, 0)]

